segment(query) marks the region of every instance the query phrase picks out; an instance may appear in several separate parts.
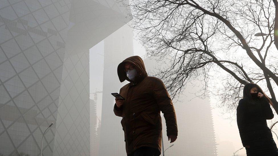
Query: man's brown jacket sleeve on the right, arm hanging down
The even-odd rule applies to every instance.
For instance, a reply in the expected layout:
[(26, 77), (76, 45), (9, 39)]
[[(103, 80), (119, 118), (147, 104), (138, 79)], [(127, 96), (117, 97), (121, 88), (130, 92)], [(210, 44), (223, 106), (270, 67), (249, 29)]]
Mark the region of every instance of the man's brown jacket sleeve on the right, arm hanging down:
[(177, 119), (174, 105), (163, 82), (156, 78), (153, 84), (154, 98), (166, 121), (167, 136), (178, 135)]

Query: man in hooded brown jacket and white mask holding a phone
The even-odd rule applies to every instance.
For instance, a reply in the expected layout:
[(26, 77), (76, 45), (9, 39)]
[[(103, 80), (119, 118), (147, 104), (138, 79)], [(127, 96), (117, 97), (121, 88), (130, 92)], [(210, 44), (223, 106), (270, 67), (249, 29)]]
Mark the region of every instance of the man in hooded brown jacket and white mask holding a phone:
[(162, 122), (164, 114), (168, 140), (177, 139), (175, 109), (163, 82), (147, 75), (143, 60), (132, 56), (118, 65), (120, 82), (128, 80), (120, 89), (125, 100), (116, 98), (114, 113), (122, 117), (126, 153), (128, 156), (158, 156), (161, 154)]

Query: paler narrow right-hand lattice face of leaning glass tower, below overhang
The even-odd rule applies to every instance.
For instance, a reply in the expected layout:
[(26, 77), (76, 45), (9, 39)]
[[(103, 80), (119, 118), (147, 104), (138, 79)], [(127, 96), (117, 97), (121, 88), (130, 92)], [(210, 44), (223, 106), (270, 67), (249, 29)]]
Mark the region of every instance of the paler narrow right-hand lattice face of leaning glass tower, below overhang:
[(89, 53), (74, 46), (69, 49), (65, 53), (53, 155), (89, 155)]

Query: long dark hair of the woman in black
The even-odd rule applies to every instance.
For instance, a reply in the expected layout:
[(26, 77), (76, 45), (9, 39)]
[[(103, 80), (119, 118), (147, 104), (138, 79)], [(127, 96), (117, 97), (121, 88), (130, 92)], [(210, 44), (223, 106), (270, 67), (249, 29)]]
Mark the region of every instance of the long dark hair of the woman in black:
[(267, 95), (265, 95), (265, 93), (261, 90), (261, 87), (254, 83), (248, 83), (244, 86), (244, 89), (243, 89), (243, 98), (244, 99), (247, 99), (248, 101), (252, 101), (252, 96), (251, 96), (250, 90), (254, 87), (256, 87), (258, 89), (257, 92), (260, 92), (263, 94), (263, 96), (269, 102), (269, 104), (271, 104), (271, 105), (273, 104), (271, 102), (271, 100), (269, 99), (269, 97)]

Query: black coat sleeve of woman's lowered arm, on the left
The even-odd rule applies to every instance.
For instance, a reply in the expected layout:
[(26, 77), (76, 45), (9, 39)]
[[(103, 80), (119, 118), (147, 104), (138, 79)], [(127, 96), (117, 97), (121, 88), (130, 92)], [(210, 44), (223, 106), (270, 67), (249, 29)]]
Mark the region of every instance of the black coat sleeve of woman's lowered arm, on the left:
[(238, 124), (238, 130), (243, 147), (245, 147), (246, 145), (250, 145), (250, 132), (248, 132), (248, 128), (245, 123), (247, 109), (246, 107), (246, 102), (243, 99), (241, 99), (236, 109), (236, 121)]

